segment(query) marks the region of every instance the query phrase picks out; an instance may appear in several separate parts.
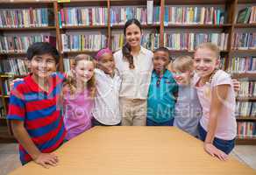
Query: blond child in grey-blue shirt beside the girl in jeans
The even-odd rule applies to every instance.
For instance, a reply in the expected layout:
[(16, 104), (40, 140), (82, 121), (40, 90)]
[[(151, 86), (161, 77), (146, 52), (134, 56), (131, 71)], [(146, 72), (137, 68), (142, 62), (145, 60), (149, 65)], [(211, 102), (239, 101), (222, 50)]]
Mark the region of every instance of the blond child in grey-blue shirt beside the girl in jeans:
[(174, 79), (179, 85), (179, 93), (175, 105), (174, 126), (198, 137), (197, 126), (202, 116), (202, 107), (196, 94), (196, 88), (191, 85), (194, 74), (193, 59), (181, 56), (172, 64)]

